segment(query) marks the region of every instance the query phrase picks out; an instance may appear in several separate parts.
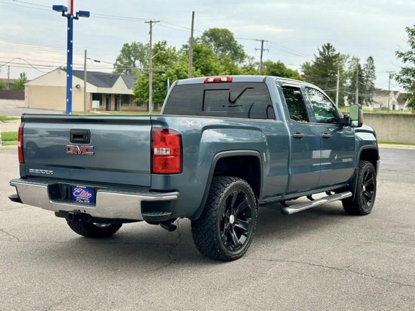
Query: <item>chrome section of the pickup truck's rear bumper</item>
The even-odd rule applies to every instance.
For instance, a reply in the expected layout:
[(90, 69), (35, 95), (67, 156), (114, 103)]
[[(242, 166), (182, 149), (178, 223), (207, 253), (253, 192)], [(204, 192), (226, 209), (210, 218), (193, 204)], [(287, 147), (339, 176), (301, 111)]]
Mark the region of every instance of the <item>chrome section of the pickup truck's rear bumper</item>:
[(141, 204), (146, 202), (177, 200), (178, 192), (130, 192), (98, 189), (95, 205), (76, 204), (52, 200), (49, 186), (57, 182), (32, 181), (21, 178), (10, 180), (10, 186), (16, 187), (22, 203), (47, 209), (49, 211), (68, 211), (89, 214), (93, 217), (110, 219), (144, 220)]

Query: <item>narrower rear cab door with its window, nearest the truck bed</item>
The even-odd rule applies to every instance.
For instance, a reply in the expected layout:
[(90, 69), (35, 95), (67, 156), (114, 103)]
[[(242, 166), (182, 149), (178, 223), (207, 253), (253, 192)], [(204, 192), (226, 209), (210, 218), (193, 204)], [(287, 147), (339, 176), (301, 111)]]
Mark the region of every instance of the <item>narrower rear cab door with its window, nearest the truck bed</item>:
[(310, 190), (317, 187), (320, 179), (320, 136), (310, 124), (300, 84), (283, 83), (281, 87), (291, 135), (291, 180), (287, 191)]

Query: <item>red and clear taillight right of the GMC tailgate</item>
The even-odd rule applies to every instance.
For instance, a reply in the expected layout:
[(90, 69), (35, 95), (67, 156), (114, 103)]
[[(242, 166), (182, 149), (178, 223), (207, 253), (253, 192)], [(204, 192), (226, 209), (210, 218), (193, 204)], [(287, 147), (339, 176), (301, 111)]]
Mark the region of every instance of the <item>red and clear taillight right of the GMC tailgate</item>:
[(153, 129), (151, 139), (154, 174), (181, 173), (181, 136), (171, 129)]

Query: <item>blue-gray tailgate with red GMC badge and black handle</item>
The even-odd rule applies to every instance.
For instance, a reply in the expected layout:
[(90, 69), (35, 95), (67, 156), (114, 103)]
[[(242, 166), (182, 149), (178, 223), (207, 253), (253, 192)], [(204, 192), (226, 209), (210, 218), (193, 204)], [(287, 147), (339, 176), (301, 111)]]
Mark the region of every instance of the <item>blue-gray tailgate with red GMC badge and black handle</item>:
[(150, 186), (150, 116), (32, 114), (22, 120), (27, 176)]

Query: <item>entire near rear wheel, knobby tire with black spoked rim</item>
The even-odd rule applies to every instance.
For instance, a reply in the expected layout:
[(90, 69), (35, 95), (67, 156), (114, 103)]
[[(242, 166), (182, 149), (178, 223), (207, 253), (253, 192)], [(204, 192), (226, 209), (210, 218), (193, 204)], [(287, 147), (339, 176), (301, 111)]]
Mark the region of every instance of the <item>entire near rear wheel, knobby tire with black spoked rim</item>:
[(257, 203), (249, 184), (237, 177), (215, 177), (192, 236), (203, 255), (236, 260), (249, 248), (256, 227)]

